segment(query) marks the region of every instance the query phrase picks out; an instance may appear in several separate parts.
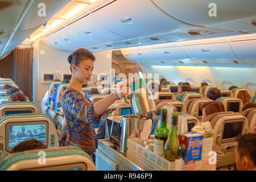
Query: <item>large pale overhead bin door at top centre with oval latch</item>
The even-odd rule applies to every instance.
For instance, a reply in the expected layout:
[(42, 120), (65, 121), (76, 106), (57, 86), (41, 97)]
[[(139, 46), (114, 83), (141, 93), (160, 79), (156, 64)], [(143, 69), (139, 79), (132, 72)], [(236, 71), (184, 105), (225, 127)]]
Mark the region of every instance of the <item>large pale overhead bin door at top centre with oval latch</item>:
[(116, 34), (130, 38), (163, 34), (188, 27), (159, 10), (150, 0), (118, 0), (96, 11), (98, 23)]

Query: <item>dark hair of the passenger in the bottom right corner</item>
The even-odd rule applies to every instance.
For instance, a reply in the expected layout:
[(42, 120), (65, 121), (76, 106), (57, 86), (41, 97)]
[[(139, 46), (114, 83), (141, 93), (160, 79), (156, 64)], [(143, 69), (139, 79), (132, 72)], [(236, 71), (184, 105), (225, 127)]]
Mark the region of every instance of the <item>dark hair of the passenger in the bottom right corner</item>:
[(237, 151), (242, 158), (243, 156), (247, 155), (256, 166), (256, 134), (255, 133), (247, 133), (247, 134), (240, 134), (236, 138), (237, 140)]

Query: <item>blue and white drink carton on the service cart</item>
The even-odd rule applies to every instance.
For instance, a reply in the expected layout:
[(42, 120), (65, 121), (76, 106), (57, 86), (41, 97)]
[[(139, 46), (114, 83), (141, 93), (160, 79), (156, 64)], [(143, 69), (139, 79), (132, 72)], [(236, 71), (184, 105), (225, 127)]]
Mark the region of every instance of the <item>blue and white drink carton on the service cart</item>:
[(183, 133), (179, 135), (181, 148), (183, 149), (183, 160), (186, 165), (195, 163), (196, 160), (201, 160), (203, 138), (203, 135), (196, 132)]

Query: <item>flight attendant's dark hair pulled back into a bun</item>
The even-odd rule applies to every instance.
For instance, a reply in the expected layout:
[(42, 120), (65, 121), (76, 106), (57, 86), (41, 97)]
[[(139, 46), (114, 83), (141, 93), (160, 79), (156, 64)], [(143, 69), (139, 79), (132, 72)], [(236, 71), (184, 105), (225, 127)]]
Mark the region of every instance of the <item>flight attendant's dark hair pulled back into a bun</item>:
[(72, 64), (75, 64), (76, 66), (78, 66), (82, 60), (85, 60), (88, 58), (95, 61), (95, 56), (92, 54), (92, 52), (84, 48), (77, 49), (71, 55), (69, 55), (68, 63), (70, 64), (71, 73), (72, 73)]

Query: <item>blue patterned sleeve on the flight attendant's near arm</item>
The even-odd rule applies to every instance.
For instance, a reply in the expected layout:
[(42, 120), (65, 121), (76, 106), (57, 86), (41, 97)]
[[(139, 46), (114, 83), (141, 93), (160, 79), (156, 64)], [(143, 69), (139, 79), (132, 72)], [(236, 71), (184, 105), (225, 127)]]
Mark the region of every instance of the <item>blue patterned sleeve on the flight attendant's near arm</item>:
[(101, 115), (93, 118), (93, 104), (82, 99), (79, 94), (66, 92), (62, 97), (63, 108), (72, 113), (77, 119), (86, 123), (98, 123)]

